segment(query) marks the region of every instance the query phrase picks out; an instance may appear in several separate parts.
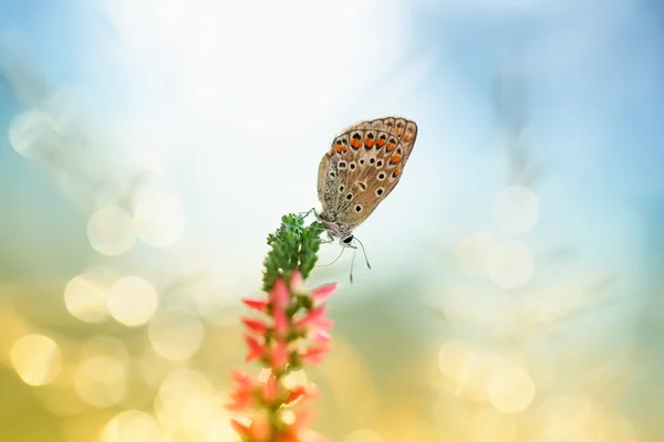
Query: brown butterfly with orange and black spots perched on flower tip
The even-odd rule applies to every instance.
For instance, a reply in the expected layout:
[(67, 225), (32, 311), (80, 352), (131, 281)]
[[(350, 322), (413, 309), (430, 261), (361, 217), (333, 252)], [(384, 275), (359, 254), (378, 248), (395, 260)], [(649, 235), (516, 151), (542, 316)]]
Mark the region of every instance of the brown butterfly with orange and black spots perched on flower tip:
[(334, 138), (318, 171), (317, 218), (330, 242), (356, 249), (353, 231), (394, 190), (416, 138), (417, 125), (403, 117), (363, 120)]

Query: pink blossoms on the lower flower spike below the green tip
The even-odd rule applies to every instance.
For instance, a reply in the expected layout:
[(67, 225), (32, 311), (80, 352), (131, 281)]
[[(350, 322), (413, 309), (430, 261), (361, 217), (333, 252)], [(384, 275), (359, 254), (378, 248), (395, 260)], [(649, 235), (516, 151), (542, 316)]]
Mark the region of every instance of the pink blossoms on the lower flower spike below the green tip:
[[(264, 383), (241, 371), (231, 375), (234, 389), (227, 408), (252, 417), (249, 424), (231, 420), (243, 441), (326, 442), (308, 430), (313, 420), (308, 403), (318, 390), (312, 385), (288, 388), (283, 377), (291, 369), (291, 357), (295, 357), (300, 366), (311, 366), (321, 362), (330, 351), (332, 337), (326, 329), (334, 323), (325, 317), (324, 302), (335, 288), (336, 284), (326, 284), (307, 293), (302, 274), (293, 270), (289, 284), (283, 277), (274, 281), (267, 299), (242, 299), (249, 308), (269, 316), (267, 320), (240, 318), (247, 327), (245, 341), (249, 351), (246, 360), (258, 360), (263, 367), (271, 368)], [(283, 410), (292, 410), (294, 421), (286, 423), (281, 419)]]

